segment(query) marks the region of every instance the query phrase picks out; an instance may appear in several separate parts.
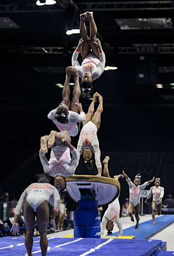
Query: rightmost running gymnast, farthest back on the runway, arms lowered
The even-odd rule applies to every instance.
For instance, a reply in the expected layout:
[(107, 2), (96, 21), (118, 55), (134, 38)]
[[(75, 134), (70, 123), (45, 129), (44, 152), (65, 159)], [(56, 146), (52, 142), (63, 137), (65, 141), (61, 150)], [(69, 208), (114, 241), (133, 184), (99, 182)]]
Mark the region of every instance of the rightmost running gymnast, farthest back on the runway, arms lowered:
[(164, 187), (160, 186), (160, 178), (155, 179), (155, 186), (150, 187), (149, 195), (147, 196), (145, 203), (148, 202), (149, 198), (153, 195), (152, 199), (152, 219), (153, 224), (156, 224), (155, 221), (155, 211), (157, 209), (158, 215), (161, 214), (162, 209), (162, 199), (164, 197)]

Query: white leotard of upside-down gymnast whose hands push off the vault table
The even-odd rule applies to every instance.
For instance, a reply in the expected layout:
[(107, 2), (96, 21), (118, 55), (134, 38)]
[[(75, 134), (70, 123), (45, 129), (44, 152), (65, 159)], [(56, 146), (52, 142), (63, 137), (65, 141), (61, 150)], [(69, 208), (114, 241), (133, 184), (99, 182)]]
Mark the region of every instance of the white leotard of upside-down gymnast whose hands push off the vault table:
[(92, 121), (89, 121), (88, 123), (86, 123), (80, 132), (80, 136), (77, 144), (78, 157), (82, 155), (84, 149), (91, 149), (91, 151), (95, 155), (96, 167), (97, 168), (102, 167), (102, 164), (100, 161), (101, 152), (99, 147), (99, 141), (97, 138), (97, 127)]

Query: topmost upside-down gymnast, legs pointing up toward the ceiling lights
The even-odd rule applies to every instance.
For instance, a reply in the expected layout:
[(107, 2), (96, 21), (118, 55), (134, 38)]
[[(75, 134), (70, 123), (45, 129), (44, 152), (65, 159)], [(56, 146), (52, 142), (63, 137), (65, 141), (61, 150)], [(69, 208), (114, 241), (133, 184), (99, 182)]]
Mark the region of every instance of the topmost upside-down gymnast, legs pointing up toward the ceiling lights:
[[(85, 20), (90, 22), (90, 38), (86, 30)], [(105, 69), (105, 53), (97, 35), (97, 27), (94, 21), (93, 12), (80, 14), (80, 34), (82, 38), (72, 55), (72, 66), (78, 70), (79, 77), (82, 78), (81, 87), (84, 97), (89, 96), (92, 81), (101, 76)], [(79, 52), (82, 55), (82, 65), (78, 62)]]

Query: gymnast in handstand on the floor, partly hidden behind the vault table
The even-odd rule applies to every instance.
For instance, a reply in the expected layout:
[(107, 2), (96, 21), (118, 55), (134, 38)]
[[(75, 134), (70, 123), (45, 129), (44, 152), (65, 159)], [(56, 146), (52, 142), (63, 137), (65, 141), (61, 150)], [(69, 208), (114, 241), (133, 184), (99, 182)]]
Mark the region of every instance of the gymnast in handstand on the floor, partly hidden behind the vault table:
[[(103, 168), (103, 176), (110, 178), (109, 170), (108, 170), (108, 161), (109, 156), (106, 156), (103, 160), (104, 168)], [(115, 175), (114, 179), (123, 178), (123, 174)], [(101, 235), (105, 236), (105, 230), (107, 230), (108, 235), (112, 235), (112, 230), (114, 228), (114, 224), (118, 226), (118, 235), (122, 236), (123, 227), (120, 221), (120, 204), (118, 197), (112, 202), (109, 203), (108, 208), (103, 215), (102, 224), (101, 224)]]

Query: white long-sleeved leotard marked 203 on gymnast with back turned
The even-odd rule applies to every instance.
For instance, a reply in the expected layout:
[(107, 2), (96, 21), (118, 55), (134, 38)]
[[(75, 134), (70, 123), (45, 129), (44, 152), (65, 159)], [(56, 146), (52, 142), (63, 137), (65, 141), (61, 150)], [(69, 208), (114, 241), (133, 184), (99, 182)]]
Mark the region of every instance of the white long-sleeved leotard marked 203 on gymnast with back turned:
[(34, 212), (36, 212), (39, 204), (45, 200), (53, 206), (55, 212), (59, 212), (60, 195), (57, 189), (49, 183), (32, 183), (22, 193), (16, 205), (15, 214), (20, 214), (25, 201), (27, 201)]

